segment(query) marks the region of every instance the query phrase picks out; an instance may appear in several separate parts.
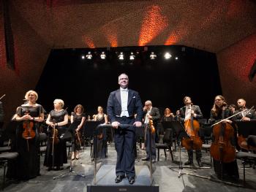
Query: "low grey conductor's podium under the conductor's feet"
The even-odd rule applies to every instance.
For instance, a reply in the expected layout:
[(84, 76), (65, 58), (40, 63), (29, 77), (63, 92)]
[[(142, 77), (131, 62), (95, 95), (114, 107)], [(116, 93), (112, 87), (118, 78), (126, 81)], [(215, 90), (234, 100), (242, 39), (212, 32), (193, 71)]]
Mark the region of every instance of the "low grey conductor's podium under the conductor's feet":
[(96, 184), (87, 185), (87, 192), (159, 192), (159, 186), (152, 186), (148, 166), (135, 166), (135, 183), (129, 184), (127, 177), (115, 183), (116, 165), (102, 165), (96, 174)]

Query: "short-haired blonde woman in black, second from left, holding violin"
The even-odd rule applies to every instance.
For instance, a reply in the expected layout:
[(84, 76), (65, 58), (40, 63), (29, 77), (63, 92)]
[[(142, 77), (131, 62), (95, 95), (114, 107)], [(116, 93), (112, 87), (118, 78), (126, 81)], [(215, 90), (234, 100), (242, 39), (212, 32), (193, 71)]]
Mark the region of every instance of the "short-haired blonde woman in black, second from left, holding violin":
[[(64, 101), (61, 99), (55, 99), (53, 101), (54, 110), (51, 110), (46, 124), (49, 126), (49, 138), (46, 147), (45, 162), (44, 165), (48, 166), (48, 171), (56, 166), (56, 170), (63, 169), (63, 164), (67, 164), (67, 149), (66, 141), (60, 137), (67, 131), (68, 113), (64, 110)], [(55, 130), (54, 130), (55, 128)], [(57, 134), (57, 138), (54, 136)], [(53, 138), (54, 143), (53, 143)], [(57, 142), (59, 141), (59, 142)]]

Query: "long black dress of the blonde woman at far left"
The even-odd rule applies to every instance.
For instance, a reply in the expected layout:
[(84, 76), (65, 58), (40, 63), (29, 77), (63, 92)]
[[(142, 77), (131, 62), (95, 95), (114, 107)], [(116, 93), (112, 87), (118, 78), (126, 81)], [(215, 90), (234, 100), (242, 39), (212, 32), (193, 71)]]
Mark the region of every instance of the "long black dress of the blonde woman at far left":
[[(34, 104), (32, 106), (24, 104), (18, 108), (16, 114), (22, 117), (29, 112), (32, 118), (38, 118), (44, 111), (40, 104)], [(39, 123), (33, 120), (29, 123), (32, 127), (30, 133), (31, 135), (35, 135), (31, 139), (23, 138), (23, 126), (26, 125), (23, 125), (23, 123), (25, 121), (18, 122), (16, 128), (15, 140), (12, 142), (12, 151), (18, 152), (19, 155), (15, 164), (8, 166), (7, 177), (18, 180), (29, 180), (37, 177), (40, 171)]]

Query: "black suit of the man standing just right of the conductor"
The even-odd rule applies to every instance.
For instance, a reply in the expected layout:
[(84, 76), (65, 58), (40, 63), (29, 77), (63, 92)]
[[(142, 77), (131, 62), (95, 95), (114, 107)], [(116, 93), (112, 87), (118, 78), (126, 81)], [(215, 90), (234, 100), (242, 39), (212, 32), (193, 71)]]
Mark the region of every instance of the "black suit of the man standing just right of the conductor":
[[(160, 119), (160, 113), (159, 113), (159, 109), (157, 107), (152, 107), (151, 111), (149, 112), (148, 115), (152, 116), (152, 120), (153, 120), (153, 124), (154, 124), (154, 128), (155, 128), (155, 132), (154, 134), (151, 133), (151, 158), (156, 160), (157, 158), (157, 150), (156, 150), (156, 142), (155, 142), (155, 137), (157, 134), (157, 123), (158, 120)], [(145, 114), (146, 116), (146, 114)], [(145, 118), (144, 118), (145, 120)], [(149, 158), (149, 154), (150, 154), (150, 137), (149, 137), (149, 130), (146, 130), (146, 153), (147, 156), (146, 158)]]

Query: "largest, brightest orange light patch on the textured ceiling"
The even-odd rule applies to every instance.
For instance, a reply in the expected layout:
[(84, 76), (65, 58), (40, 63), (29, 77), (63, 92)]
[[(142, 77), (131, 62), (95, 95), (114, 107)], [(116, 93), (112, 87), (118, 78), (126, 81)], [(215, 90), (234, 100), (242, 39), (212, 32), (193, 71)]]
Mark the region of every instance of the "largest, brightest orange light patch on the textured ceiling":
[(148, 7), (140, 29), (138, 45), (144, 46), (151, 42), (167, 26), (167, 17), (161, 14), (161, 8), (159, 6)]

